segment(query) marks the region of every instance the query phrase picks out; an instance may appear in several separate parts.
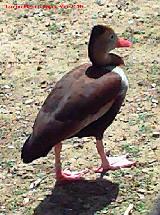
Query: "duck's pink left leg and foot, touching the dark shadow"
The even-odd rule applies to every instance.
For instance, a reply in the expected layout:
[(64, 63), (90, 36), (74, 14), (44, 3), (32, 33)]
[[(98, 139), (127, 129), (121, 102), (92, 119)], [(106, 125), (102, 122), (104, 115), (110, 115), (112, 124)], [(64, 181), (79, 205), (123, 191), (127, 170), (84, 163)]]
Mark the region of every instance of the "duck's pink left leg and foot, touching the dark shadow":
[(81, 180), (82, 175), (84, 172), (80, 173), (71, 173), (68, 171), (62, 171), (61, 167), (61, 149), (62, 149), (62, 143), (57, 144), (54, 147), (55, 150), (55, 172), (56, 172), (56, 180), (57, 181), (75, 181), (75, 180)]

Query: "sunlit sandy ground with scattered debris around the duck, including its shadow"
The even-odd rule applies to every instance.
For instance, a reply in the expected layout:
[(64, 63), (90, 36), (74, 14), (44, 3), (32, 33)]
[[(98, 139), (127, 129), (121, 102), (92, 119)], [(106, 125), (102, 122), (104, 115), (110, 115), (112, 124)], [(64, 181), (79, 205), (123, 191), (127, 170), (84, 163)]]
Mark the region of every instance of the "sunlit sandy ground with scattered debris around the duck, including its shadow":
[[(0, 1), (0, 215), (122, 215), (129, 204), (133, 215), (147, 214), (160, 188), (159, 0), (68, 1), (84, 7), (63, 10), (5, 8), (13, 3), (53, 4)], [(104, 143), (113, 155), (129, 153), (137, 167), (109, 172), (102, 180), (92, 171), (100, 163), (95, 140), (69, 140), (63, 167), (90, 171), (87, 181), (58, 186), (53, 152), (25, 165), (21, 147), (52, 86), (88, 62), (95, 24), (110, 25), (133, 42), (131, 49), (115, 50), (124, 58), (130, 89)]]

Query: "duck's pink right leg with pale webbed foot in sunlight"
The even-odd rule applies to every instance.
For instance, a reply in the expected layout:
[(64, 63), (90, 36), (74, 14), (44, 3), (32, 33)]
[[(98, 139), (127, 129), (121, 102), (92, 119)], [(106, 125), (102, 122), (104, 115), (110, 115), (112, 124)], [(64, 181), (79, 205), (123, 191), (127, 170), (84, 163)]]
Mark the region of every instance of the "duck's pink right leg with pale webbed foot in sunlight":
[(104, 151), (102, 140), (96, 141), (96, 147), (102, 162), (101, 166), (95, 170), (96, 173), (102, 173), (108, 170), (116, 170), (135, 165), (135, 162), (129, 161), (126, 155), (117, 157), (107, 157)]

